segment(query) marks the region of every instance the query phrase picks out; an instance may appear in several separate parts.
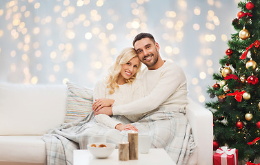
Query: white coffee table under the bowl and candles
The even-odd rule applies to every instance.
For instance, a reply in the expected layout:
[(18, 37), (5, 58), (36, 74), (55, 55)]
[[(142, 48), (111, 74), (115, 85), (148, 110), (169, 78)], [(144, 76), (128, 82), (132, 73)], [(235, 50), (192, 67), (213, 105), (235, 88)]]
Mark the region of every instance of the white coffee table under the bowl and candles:
[(88, 150), (74, 150), (74, 165), (174, 165), (170, 156), (163, 148), (151, 148), (149, 153), (139, 153), (137, 160), (119, 161), (118, 150), (115, 149), (110, 157), (97, 159)]

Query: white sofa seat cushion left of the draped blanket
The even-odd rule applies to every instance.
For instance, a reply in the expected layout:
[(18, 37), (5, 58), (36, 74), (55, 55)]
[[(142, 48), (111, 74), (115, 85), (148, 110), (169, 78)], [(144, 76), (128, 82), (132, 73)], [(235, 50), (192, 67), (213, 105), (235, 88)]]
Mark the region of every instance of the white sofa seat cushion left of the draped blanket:
[(41, 135), (1, 135), (0, 162), (46, 162), (45, 143)]

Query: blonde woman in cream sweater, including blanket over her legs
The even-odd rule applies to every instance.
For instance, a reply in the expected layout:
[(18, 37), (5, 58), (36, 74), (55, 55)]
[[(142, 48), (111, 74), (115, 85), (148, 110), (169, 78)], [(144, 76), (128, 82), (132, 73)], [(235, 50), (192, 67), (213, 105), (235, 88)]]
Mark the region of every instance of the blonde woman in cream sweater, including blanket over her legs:
[[(97, 83), (94, 89), (93, 109), (114, 104), (125, 104), (143, 96), (142, 87), (136, 79), (141, 62), (133, 48), (124, 49), (109, 69), (108, 77)], [(115, 101), (116, 100), (116, 101)], [(43, 136), (46, 142), (47, 164), (73, 164), (73, 150), (86, 149), (90, 137), (105, 135), (107, 142), (118, 144), (126, 142), (127, 131), (137, 128), (130, 122), (136, 122), (141, 115), (96, 115), (90, 113), (83, 120), (64, 123)], [(110, 129), (112, 128), (112, 129)], [(117, 131), (118, 129), (119, 131)], [(140, 129), (139, 129), (140, 130)]]

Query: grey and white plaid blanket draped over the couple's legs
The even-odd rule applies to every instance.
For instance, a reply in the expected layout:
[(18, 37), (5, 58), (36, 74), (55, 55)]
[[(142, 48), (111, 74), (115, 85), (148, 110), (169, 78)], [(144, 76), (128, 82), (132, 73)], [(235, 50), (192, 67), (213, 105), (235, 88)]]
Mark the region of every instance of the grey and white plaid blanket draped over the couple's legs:
[[(93, 113), (90, 113), (84, 120), (64, 123), (43, 135), (48, 165), (73, 164), (73, 150), (86, 149), (93, 135), (106, 135), (107, 142), (116, 145), (128, 140), (128, 131), (110, 129), (94, 122), (93, 117)], [(112, 118), (123, 124), (130, 123), (121, 115)], [(195, 144), (185, 111), (159, 108), (144, 115), (133, 125), (140, 134), (146, 133), (152, 137), (152, 148), (164, 148), (176, 164), (186, 164), (194, 151)]]

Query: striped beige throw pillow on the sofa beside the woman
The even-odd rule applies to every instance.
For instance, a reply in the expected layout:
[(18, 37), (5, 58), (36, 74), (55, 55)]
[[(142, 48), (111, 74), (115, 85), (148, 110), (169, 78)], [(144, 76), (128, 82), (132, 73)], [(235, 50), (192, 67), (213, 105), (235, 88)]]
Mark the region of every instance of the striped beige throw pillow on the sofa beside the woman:
[(65, 122), (81, 120), (92, 111), (93, 91), (81, 85), (67, 82), (68, 98)]

